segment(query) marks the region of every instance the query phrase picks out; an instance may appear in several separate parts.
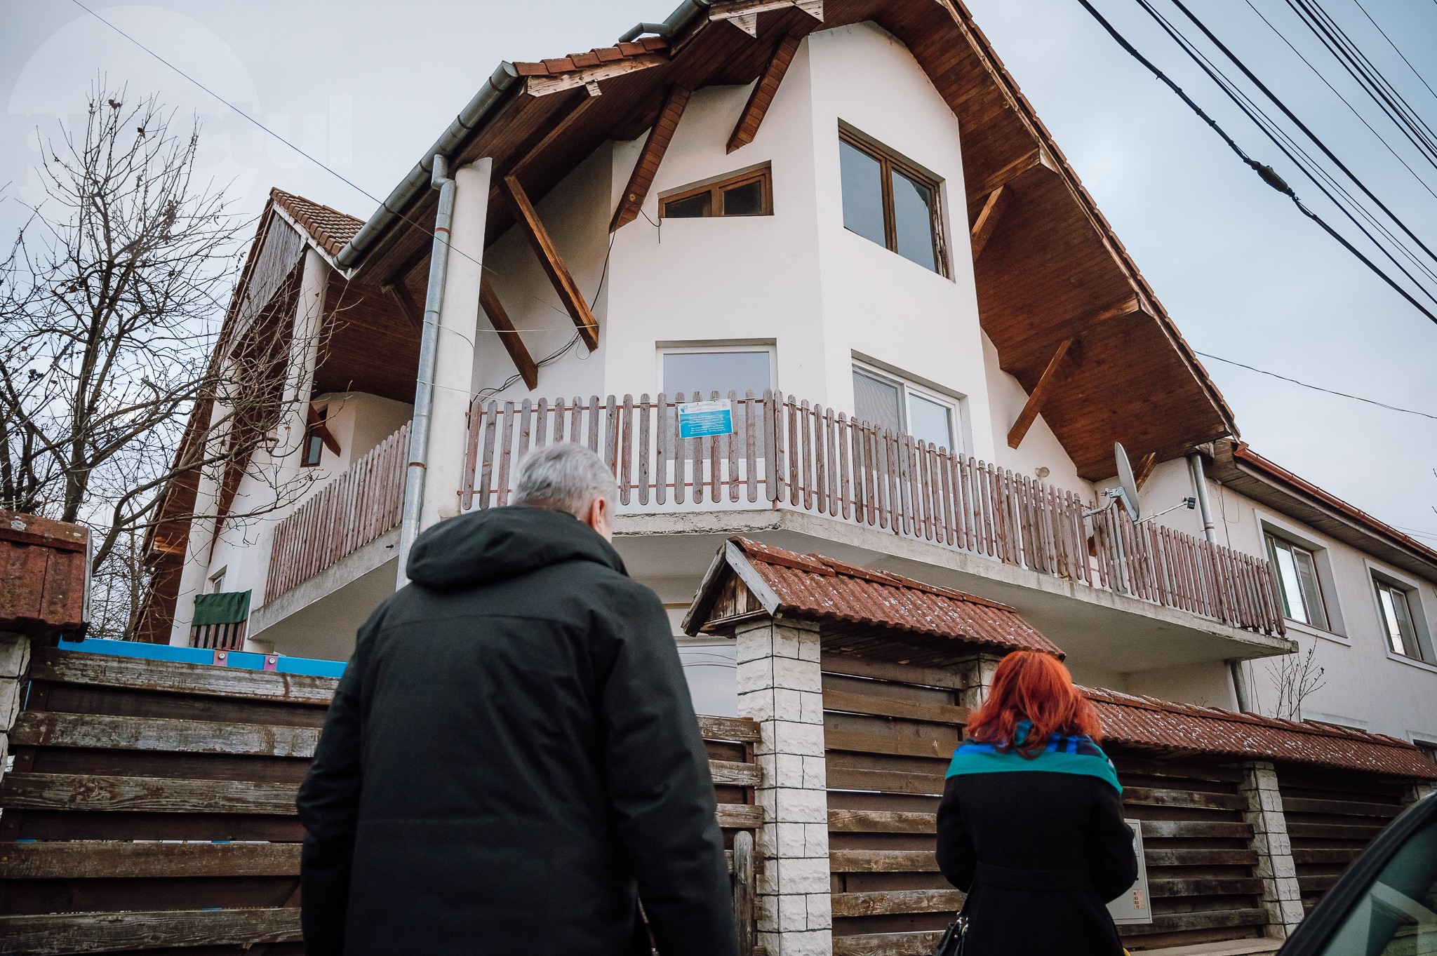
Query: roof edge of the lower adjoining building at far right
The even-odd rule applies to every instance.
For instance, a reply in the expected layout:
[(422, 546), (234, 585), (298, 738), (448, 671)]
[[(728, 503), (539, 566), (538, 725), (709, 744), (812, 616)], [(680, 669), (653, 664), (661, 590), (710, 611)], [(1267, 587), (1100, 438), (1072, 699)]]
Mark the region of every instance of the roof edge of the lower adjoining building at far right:
[(1394, 567), (1437, 583), (1437, 551), (1247, 446), (1221, 441), (1209, 472), (1226, 487)]

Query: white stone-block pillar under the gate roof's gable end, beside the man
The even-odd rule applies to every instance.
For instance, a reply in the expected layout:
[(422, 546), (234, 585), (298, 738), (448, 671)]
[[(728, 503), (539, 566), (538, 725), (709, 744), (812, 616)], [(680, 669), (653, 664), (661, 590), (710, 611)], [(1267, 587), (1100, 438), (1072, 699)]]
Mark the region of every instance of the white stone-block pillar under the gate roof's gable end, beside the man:
[(759, 945), (769, 956), (833, 952), (828, 863), (823, 683), (818, 624), (739, 624), (739, 713), (759, 722)]

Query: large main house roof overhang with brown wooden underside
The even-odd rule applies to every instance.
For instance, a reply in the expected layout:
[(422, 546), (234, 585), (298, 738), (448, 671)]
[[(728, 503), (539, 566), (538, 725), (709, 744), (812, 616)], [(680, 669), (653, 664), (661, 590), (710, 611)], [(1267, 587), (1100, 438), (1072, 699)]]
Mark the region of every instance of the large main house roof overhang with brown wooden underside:
[[(1006, 189), (974, 263), (980, 320), (1000, 366), (1032, 390), (1058, 347), (1075, 340), (1042, 412), (1078, 472), (1111, 477), (1115, 441), (1167, 461), (1237, 434), (1217, 386), (961, 3), (825, 0), (821, 20), (795, 3), (764, 3), (753, 36), (724, 23), (729, 6), (685, 1), (662, 46), (647, 37), (502, 65), (338, 261), (376, 286), (421, 267), (430, 237), (414, 224), (434, 217), (435, 151), (451, 167), (490, 156), (496, 175), (514, 175), (537, 202), (605, 141), (642, 135), (673, 86), (752, 83), (786, 37), (874, 22), (908, 46), (958, 121), (970, 221)], [(612, 70), (601, 56), (608, 50), (631, 69)], [(585, 89), (591, 80), (602, 96)], [(494, 204), (486, 243), (512, 222)]]

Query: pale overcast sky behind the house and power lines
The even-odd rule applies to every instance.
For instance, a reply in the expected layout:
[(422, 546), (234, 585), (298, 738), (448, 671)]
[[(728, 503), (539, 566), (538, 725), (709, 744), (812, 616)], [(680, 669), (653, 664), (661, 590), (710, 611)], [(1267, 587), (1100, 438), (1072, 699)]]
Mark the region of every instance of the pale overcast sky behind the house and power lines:
[[(0, 0), (0, 235), (9, 243), (33, 197), (36, 126), (83, 112), (96, 72), (195, 111), (205, 169), (240, 208), (272, 185), (358, 217), (412, 167), (504, 59), (605, 46), (667, 0), (85, 0), (108, 20), (359, 188), (257, 132), (213, 96), (86, 14), (75, 0)], [(1437, 98), (1362, 17), (1328, 10), (1437, 126)], [(1200, 352), (1437, 415), (1437, 326), (1404, 303), (1289, 200), (1263, 185), (1181, 102), (1128, 57), (1076, 0), (970, 0), (979, 24)], [(1400, 214), (1437, 247), (1437, 169), (1420, 165), (1369, 102), (1341, 83), (1282, 0), (1197, 4), (1227, 40)], [(1437, 88), (1437, 3), (1364, 0)], [(1313, 187), (1224, 106), (1132, 0), (1096, 0), (1250, 154), (1272, 162), (1329, 215)], [(1407, 172), (1298, 56), (1263, 11), (1322, 70), (1427, 187)], [(1283, 16), (1286, 14), (1286, 16)], [(1220, 362), (1207, 369), (1255, 449), (1372, 514), (1437, 544), (1437, 421), (1321, 395)]]

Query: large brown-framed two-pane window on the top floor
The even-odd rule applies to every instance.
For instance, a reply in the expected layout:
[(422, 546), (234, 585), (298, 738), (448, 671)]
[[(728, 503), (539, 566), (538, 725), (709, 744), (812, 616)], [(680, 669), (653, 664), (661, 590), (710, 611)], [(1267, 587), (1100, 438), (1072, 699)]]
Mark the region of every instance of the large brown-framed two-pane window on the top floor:
[(844, 228), (947, 274), (938, 181), (882, 146), (842, 131), (838, 141)]

